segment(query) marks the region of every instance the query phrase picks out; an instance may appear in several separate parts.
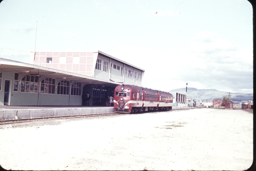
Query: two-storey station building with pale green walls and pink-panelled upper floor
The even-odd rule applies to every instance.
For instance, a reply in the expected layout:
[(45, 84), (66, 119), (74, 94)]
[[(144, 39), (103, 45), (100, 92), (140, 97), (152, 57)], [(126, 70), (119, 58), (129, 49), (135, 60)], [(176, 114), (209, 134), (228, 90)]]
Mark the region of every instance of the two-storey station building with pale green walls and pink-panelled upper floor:
[(141, 86), (145, 70), (100, 51), (36, 51), (31, 63), (0, 58), (0, 105), (104, 105), (120, 84)]

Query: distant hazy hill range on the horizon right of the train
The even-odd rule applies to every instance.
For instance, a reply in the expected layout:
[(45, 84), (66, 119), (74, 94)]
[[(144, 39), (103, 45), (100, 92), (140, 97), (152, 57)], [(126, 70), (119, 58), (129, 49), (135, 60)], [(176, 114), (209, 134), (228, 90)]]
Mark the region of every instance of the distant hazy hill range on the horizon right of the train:
[[(179, 88), (169, 91), (174, 96), (175, 93), (186, 94), (186, 87)], [(224, 96), (228, 97), (228, 92), (218, 91), (216, 89), (196, 89), (188, 87), (187, 96), (192, 96), (192, 99), (195, 100), (211, 100), (214, 99), (223, 99)], [(244, 93), (231, 93), (232, 101), (243, 101), (243, 100), (253, 100), (252, 94), (244, 94)]]

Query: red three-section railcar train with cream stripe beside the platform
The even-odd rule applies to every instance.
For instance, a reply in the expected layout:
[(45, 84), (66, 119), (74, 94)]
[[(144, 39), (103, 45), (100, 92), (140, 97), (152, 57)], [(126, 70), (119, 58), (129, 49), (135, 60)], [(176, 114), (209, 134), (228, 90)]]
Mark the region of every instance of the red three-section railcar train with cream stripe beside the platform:
[(142, 111), (171, 110), (173, 96), (136, 85), (118, 85), (114, 90), (114, 112), (135, 113)]

